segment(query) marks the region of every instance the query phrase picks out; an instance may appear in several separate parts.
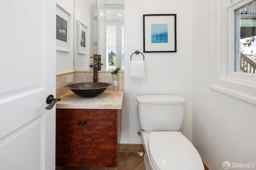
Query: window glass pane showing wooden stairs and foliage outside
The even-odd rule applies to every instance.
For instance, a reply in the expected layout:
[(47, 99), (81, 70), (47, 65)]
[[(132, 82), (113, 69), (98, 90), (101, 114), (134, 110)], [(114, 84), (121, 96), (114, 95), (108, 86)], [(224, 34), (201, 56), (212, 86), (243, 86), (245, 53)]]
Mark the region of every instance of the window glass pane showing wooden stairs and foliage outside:
[[(234, 71), (256, 74), (256, 1), (234, 11), (235, 67)], [(255, 41), (255, 42), (254, 42)]]

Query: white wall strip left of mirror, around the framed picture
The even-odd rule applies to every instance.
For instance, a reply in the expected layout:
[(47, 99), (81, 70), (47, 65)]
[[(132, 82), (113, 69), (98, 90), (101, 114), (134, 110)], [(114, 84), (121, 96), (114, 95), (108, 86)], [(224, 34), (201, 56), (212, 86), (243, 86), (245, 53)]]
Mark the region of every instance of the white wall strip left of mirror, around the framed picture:
[(71, 51), (56, 51), (56, 73), (74, 70), (74, 0), (57, 0), (62, 8), (68, 11), (71, 16)]

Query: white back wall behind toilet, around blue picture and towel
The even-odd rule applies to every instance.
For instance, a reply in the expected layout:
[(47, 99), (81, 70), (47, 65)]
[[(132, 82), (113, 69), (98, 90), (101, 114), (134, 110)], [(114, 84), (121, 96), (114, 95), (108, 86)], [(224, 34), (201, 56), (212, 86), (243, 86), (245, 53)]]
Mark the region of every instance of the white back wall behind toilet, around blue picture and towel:
[[(121, 143), (141, 143), (137, 135), (137, 95), (173, 94), (186, 98), (182, 133), (192, 140), (192, 1), (125, 0), (125, 78)], [(145, 79), (130, 78), (130, 55), (143, 53), (143, 14), (177, 14), (177, 53), (144, 53)], [(133, 55), (133, 57), (139, 57)]]

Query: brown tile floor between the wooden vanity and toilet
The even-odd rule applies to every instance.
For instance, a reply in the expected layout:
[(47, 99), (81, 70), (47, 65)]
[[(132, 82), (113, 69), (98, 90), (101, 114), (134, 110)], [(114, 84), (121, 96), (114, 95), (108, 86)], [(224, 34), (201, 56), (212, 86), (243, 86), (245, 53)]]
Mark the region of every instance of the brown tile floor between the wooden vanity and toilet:
[[(144, 157), (138, 154), (138, 152), (140, 151), (144, 152), (144, 148), (140, 144), (120, 144), (117, 168), (57, 166), (55, 170), (146, 170), (145, 164), (144, 164)], [(204, 164), (204, 168), (205, 170), (209, 170), (207, 166), (205, 166), (205, 164)]]

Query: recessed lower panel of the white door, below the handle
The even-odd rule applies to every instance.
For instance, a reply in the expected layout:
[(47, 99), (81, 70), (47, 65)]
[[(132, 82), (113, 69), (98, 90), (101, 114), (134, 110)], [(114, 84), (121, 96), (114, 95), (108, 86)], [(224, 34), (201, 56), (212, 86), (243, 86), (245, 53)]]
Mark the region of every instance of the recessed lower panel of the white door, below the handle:
[(40, 143), (40, 138), (42, 138), (40, 126), (41, 117), (0, 139), (0, 153), (5, 153), (0, 154), (2, 170), (39, 169), (41, 162), (38, 160), (38, 155), (42, 155), (43, 152), (40, 147), (42, 145)]

